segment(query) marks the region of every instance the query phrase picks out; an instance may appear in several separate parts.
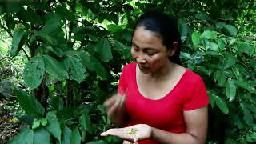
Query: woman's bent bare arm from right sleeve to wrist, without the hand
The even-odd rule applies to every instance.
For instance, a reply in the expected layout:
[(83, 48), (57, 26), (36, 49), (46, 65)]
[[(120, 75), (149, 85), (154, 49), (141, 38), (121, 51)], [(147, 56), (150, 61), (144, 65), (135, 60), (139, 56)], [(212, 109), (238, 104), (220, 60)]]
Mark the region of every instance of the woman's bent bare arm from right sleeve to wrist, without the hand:
[(206, 142), (208, 126), (207, 107), (185, 111), (184, 118), (186, 122), (186, 133), (174, 134), (152, 128), (151, 138), (154, 141), (166, 144), (204, 144)]

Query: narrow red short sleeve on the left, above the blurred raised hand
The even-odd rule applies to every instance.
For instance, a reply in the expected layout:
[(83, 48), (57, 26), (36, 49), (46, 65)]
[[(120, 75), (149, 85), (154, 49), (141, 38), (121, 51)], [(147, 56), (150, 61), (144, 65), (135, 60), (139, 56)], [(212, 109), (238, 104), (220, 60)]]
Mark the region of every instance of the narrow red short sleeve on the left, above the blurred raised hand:
[(122, 68), (122, 73), (121, 76), (119, 78), (119, 84), (118, 84), (118, 93), (119, 94), (124, 94), (126, 92), (127, 89), (127, 66), (124, 66)]

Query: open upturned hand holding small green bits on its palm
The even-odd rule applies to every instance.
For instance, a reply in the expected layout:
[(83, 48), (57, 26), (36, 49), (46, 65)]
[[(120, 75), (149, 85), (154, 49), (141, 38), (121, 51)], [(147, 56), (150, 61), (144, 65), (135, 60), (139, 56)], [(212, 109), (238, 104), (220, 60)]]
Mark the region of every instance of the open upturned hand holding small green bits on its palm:
[(138, 124), (134, 126), (110, 129), (103, 132), (101, 136), (116, 136), (130, 142), (138, 142), (139, 140), (150, 138), (152, 128), (146, 124)]

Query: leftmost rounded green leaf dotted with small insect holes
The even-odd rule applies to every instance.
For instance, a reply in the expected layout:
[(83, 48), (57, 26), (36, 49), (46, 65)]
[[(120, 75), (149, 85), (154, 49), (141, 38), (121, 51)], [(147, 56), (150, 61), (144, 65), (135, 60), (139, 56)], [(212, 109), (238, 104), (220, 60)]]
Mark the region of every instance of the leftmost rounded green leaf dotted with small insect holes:
[(24, 82), (30, 89), (37, 88), (44, 78), (45, 64), (41, 55), (36, 55), (26, 63), (24, 68)]

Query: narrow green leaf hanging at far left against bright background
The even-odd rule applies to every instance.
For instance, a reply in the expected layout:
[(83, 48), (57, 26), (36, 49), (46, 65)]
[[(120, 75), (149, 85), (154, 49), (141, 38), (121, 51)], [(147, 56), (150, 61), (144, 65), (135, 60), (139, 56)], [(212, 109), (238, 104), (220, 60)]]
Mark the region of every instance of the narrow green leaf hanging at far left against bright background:
[(20, 50), (22, 50), (22, 46), (24, 41), (27, 38), (28, 33), (25, 29), (18, 29), (14, 31), (14, 36), (11, 42), (10, 56), (15, 57)]

